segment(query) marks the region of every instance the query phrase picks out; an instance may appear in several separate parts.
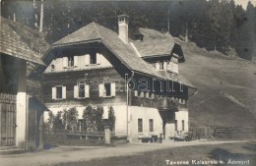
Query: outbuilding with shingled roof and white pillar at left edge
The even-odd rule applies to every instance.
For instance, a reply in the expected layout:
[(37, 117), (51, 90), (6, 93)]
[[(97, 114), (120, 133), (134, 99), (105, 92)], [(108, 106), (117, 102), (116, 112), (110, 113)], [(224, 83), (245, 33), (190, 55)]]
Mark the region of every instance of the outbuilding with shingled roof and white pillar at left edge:
[(14, 146), (34, 150), (42, 147), (43, 111), (47, 108), (35, 96), (29, 95), (27, 89), (27, 67), (44, 65), (24, 40), (35, 33), (1, 17), (0, 148)]

